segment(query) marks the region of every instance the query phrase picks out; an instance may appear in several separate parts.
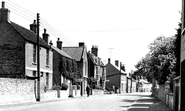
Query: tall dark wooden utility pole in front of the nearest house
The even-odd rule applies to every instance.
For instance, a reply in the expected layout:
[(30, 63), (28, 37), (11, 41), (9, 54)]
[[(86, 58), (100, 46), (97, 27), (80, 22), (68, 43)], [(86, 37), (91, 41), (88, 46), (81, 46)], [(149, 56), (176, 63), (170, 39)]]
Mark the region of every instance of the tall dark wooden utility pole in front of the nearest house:
[(40, 14), (37, 13), (37, 101), (40, 101), (40, 41), (39, 26)]

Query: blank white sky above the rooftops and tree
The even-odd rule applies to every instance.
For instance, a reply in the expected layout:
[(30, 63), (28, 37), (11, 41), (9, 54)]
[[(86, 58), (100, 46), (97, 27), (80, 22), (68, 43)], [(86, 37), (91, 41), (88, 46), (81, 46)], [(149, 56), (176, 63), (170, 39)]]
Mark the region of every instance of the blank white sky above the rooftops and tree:
[(181, 0), (4, 0), (10, 20), (29, 29), (41, 17), (43, 28), (56, 45), (87, 50), (98, 46), (98, 56), (107, 63), (119, 60), (126, 72), (144, 57), (148, 45), (159, 36), (173, 36), (180, 22)]

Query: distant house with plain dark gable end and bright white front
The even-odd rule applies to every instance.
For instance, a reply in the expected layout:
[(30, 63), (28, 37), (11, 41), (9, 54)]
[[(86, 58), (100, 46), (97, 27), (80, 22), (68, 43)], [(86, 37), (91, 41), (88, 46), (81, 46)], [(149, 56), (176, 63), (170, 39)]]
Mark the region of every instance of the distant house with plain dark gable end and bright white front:
[(115, 65), (111, 64), (110, 59), (106, 64), (106, 89), (116, 93), (124, 93), (127, 88), (127, 74), (120, 70), (119, 61)]

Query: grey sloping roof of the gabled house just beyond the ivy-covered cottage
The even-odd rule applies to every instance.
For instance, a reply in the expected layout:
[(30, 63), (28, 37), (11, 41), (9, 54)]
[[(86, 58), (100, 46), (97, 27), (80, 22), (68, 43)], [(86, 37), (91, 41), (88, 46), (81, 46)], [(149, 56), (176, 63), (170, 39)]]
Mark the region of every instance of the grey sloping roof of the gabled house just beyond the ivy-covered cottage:
[(63, 51), (76, 61), (81, 61), (84, 47), (63, 47)]

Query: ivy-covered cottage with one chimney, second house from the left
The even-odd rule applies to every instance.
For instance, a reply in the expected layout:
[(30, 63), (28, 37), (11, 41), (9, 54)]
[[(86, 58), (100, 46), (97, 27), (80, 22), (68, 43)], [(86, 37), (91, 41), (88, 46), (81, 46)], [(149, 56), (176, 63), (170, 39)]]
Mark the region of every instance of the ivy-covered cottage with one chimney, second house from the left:
[[(62, 83), (72, 83), (77, 76), (76, 61), (63, 51), (62, 41), (58, 38), (57, 47), (53, 49), (53, 85), (61, 86)], [(71, 67), (68, 71), (67, 67)], [(67, 75), (69, 73), (69, 75)]]

